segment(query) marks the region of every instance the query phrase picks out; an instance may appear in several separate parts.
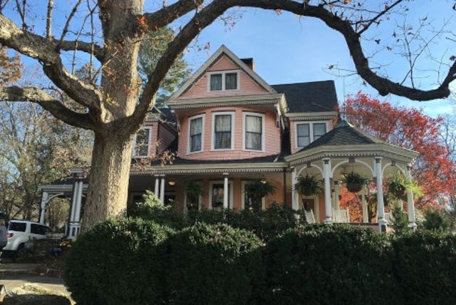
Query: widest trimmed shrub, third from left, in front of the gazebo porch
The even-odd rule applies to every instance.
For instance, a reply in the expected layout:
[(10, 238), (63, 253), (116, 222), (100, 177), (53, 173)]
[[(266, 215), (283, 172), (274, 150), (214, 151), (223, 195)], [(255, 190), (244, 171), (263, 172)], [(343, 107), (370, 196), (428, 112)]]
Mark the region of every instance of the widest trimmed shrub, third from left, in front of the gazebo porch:
[(290, 229), (266, 248), (269, 304), (401, 304), (388, 239), (371, 229)]

